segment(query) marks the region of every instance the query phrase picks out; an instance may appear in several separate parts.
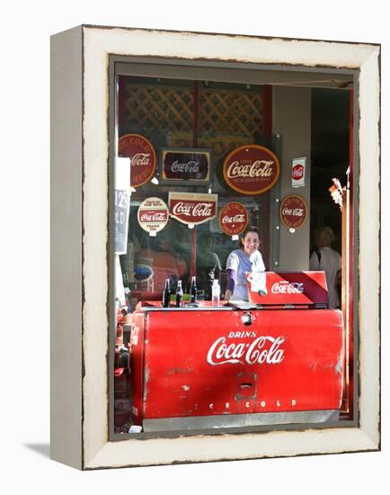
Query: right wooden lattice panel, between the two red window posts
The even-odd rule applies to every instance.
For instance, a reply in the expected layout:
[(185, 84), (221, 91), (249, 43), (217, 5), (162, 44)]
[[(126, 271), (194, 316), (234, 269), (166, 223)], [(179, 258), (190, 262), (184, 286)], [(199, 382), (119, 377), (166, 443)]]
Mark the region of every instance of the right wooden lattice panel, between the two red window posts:
[(199, 131), (245, 136), (261, 135), (261, 94), (221, 90), (201, 91)]

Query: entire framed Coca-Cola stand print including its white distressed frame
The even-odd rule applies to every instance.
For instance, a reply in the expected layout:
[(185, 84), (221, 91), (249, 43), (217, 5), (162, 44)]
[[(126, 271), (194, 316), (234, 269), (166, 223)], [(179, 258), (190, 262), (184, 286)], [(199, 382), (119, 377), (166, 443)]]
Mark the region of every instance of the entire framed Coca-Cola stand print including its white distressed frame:
[(52, 37), (54, 459), (380, 448), (379, 62), (343, 41)]

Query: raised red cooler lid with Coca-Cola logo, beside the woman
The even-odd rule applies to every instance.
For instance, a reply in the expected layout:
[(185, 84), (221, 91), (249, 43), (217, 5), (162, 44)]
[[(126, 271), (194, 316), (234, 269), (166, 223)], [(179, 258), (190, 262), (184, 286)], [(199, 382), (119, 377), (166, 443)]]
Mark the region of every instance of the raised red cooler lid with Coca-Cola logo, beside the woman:
[[(324, 272), (265, 272), (262, 290), (245, 274), (249, 302), (265, 306), (328, 307), (328, 288)], [(253, 287), (255, 290), (253, 290)]]

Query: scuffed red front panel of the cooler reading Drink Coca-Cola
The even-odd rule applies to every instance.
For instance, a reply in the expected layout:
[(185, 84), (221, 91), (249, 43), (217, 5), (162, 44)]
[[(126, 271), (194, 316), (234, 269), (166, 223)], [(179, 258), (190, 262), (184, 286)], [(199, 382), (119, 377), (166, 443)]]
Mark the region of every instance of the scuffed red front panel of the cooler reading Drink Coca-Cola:
[(144, 419), (341, 407), (341, 311), (184, 309), (139, 311), (135, 320), (133, 392)]

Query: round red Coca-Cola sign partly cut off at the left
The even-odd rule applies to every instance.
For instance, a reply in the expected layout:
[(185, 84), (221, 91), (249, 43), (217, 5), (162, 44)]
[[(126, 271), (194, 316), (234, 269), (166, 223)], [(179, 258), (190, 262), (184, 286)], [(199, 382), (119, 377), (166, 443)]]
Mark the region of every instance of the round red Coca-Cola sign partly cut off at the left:
[(120, 157), (129, 157), (130, 185), (139, 187), (146, 184), (155, 175), (155, 148), (140, 134), (125, 134), (118, 144)]

